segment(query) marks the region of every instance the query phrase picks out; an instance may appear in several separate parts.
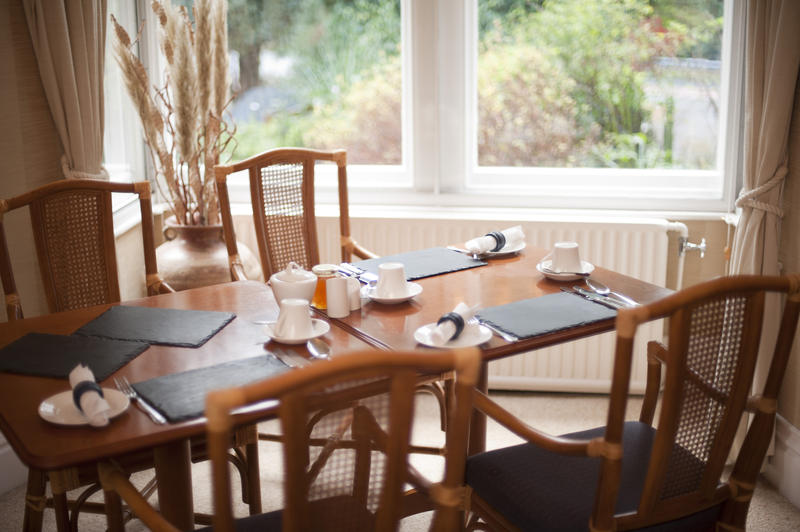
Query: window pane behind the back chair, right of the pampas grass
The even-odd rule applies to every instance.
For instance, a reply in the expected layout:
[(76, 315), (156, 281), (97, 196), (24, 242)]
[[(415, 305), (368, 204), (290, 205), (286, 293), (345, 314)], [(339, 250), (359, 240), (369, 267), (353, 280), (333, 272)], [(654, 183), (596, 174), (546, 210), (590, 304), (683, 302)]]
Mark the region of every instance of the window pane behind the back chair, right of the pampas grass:
[(229, 0), (238, 56), (235, 159), (269, 148), (346, 148), (400, 164), (399, 0)]

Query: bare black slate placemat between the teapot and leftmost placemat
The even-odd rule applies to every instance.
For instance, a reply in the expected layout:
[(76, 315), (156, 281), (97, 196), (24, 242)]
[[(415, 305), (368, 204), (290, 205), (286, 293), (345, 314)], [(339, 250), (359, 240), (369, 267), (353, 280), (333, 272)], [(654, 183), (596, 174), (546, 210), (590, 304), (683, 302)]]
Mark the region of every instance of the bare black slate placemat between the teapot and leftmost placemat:
[(150, 344), (200, 347), (235, 317), (232, 312), (118, 305), (75, 332)]

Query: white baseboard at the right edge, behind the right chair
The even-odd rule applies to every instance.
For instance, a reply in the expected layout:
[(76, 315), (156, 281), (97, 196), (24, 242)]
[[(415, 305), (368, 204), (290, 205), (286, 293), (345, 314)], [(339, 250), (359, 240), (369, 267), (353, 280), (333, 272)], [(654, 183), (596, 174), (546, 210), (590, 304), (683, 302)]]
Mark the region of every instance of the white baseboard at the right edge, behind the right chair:
[(800, 508), (800, 429), (781, 416), (775, 423), (775, 455), (764, 474), (781, 495)]

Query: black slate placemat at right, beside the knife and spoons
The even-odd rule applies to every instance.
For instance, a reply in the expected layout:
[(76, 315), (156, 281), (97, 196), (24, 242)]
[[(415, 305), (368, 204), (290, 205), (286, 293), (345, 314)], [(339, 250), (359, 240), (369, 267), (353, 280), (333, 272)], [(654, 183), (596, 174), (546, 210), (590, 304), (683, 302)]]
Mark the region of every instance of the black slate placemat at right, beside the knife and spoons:
[(478, 319), (517, 338), (530, 338), (549, 332), (607, 320), (617, 311), (574, 294), (549, 294), (523, 299), (477, 313)]

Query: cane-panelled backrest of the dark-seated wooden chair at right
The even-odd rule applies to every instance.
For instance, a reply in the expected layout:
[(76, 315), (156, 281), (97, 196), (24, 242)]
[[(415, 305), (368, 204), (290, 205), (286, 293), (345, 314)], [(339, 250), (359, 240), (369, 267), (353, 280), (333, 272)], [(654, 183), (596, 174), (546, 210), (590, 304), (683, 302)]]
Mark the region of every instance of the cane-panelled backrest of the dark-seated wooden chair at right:
[[(760, 352), (766, 383), (751, 395), (759, 358), (765, 296), (783, 293), (785, 303), (774, 346)], [(773, 297), (773, 296), (770, 296)], [(605, 454), (593, 525), (628, 529), (676, 519), (724, 503), (723, 522), (744, 517), (769, 445), (776, 401), (791, 352), (800, 309), (800, 276), (723, 277), (651, 305), (621, 310)], [(668, 318), (666, 348), (648, 350), (648, 390), (641, 421), (650, 423), (666, 369), (660, 414), (638, 510), (614, 518), (621, 470), (619, 453), (628, 395), (633, 337), (639, 324)], [(730, 477), (722, 481), (740, 421), (754, 417)], [(622, 453), (624, 453), (622, 449)], [(622, 457), (624, 461), (624, 456)]]

